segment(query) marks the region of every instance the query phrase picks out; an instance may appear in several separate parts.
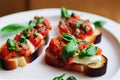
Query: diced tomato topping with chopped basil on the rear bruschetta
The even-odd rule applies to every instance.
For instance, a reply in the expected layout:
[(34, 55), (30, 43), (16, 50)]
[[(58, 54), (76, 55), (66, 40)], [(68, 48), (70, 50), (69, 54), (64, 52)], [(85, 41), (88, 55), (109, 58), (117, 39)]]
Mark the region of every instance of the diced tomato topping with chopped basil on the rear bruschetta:
[(90, 22), (88, 20), (81, 20), (76, 14), (69, 16), (68, 19), (62, 18), (60, 22), (58, 28), (61, 34), (69, 33), (82, 40), (93, 34)]

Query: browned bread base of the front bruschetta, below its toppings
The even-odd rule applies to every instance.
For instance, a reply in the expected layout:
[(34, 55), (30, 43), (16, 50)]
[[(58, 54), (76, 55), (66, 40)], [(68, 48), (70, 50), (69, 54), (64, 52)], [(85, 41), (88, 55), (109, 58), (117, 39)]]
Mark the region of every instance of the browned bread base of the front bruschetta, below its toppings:
[(106, 73), (107, 69), (107, 58), (103, 55), (101, 62), (88, 65), (72, 63), (67, 69), (66, 66), (68, 65), (65, 65), (61, 59), (53, 55), (48, 48), (46, 49), (45, 62), (51, 66), (61, 67), (66, 70), (84, 72), (88, 76), (101, 76)]

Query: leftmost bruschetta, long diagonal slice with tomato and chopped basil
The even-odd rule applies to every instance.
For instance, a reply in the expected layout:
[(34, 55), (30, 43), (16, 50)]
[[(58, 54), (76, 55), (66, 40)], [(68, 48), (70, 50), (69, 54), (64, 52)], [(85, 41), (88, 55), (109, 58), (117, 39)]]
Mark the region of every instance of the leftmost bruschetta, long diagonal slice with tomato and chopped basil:
[(3, 69), (13, 70), (34, 61), (47, 43), (51, 25), (48, 19), (35, 16), (29, 26), (14, 39), (7, 39), (0, 48), (0, 61)]

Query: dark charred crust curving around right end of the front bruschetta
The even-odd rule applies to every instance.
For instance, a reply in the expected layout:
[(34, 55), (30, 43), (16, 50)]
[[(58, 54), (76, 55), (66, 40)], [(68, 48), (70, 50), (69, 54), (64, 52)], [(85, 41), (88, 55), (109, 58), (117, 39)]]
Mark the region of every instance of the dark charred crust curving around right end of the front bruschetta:
[(90, 76), (90, 77), (97, 77), (97, 76), (102, 76), (106, 73), (107, 71), (107, 58), (103, 56), (104, 62), (101, 64), (101, 67), (98, 68), (92, 68), (89, 65), (85, 66), (85, 74)]

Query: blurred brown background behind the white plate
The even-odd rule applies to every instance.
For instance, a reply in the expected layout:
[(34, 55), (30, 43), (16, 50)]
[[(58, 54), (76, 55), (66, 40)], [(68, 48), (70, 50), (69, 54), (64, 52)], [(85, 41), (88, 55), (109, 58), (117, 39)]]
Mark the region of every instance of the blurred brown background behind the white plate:
[(120, 0), (0, 0), (0, 17), (15, 12), (63, 6), (120, 23)]

